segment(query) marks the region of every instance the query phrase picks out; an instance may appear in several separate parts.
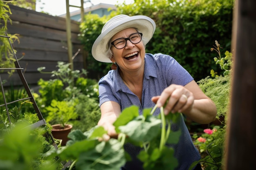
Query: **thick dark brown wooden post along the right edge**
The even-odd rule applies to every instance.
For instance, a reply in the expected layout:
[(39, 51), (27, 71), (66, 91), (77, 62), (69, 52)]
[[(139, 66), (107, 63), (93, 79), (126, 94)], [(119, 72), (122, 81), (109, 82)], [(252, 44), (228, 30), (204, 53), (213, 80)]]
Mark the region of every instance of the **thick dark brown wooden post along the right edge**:
[(225, 169), (256, 168), (256, 1), (236, 0), (232, 51), (234, 73)]

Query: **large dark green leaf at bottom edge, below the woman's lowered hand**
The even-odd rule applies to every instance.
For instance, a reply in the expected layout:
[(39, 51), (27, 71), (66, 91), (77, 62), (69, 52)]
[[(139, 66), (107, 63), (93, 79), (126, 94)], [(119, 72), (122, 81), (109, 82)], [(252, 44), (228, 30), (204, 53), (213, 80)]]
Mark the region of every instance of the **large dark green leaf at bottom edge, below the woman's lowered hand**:
[(125, 162), (121, 144), (117, 139), (110, 139), (81, 153), (76, 162), (76, 168), (78, 170), (120, 170)]

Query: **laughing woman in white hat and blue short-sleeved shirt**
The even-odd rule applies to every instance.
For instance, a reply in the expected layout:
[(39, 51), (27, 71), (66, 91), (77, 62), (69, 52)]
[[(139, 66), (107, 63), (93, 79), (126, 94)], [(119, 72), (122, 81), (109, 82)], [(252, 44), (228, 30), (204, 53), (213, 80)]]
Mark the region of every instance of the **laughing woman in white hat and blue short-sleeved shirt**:
[[(146, 16), (117, 15), (103, 26), (92, 46), (96, 60), (117, 64), (116, 70), (109, 71), (99, 81), (101, 119), (98, 125), (106, 128), (110, 137), (117, 136), (112, 123), (124, 108), (131, 105), (139, 106), (141, 114), (144, 108), (153, 108), (155, 104), (161, 107), (169, 99), (165, 114), (180, 112), (200, 124), (208, 124), (216, 117), (215, 104), (173, 57), (145, 53), (154, 31), (155, 22)], [(159, 112), (157, 109), (154, 114)], [(191, 163), (200, 159), (200, 154), (184, 119), (174, 126), (182, 129), (182, 136), (175, 146), (175, 157), (179, 162), (177, 170), (187, 170)], [(127, 144), (125, 150), (132, 161), (122, 169), (142, 170), (141, 162), (136, 159), (140, 149)], [(194, 169), (201, 169), (200, 164)]]

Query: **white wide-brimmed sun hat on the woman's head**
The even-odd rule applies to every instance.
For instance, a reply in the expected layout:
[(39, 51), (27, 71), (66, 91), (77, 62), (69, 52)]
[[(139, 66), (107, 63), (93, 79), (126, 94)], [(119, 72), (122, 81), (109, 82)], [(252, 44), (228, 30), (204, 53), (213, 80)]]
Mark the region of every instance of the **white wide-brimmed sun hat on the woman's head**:
[(111, 63), (107, 56), (110, 39), (119, 31), (136, 28), (142, 33), (142, 40), (147, 44), (155, 32), (155, 22), (144, 15), (116, 15), (103, 26), (101, 34), (92, 45), (92, 56), (99, 62)]

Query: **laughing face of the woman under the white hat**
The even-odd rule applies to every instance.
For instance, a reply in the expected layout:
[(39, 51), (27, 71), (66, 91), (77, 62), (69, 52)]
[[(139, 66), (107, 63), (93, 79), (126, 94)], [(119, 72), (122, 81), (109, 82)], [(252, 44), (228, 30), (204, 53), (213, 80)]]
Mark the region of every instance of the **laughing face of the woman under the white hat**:
[[(137, 30), (134, 28), (124, 29), (116, 33), (111, 38), (110, 42), (113, 42), (118, 38), (128, 38), (133, 33), (137, 33)], [(132, 36), (130, 38), (132, 38)], [(126, 46), (123, 49), (117, 49), (114, 45), (112, 45), (110, 49), (113, 52), (111, 61), (113, 63), (117, 62), (121, 70), (135, 71), (144, 67), (145, 48), (142, 40), (137, 44), (133, 44), (129, 40), (126, 40)]]

